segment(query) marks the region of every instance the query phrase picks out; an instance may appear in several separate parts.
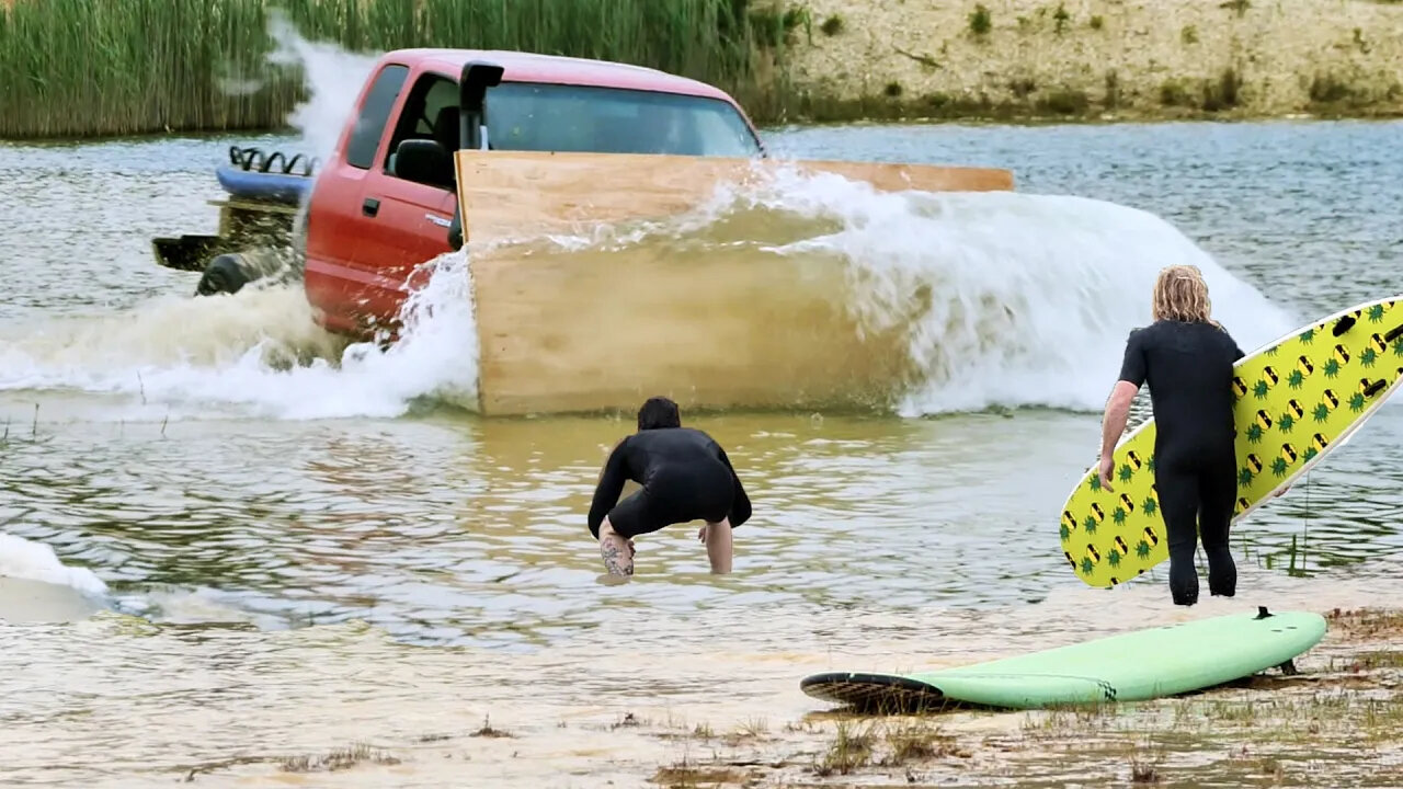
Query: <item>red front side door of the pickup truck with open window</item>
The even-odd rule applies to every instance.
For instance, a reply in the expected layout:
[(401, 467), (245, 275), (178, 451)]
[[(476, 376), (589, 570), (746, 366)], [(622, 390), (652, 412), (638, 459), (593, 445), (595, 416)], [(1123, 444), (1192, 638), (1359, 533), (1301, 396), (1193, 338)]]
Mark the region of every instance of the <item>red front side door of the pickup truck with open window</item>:
[(391, 119), (382, 166), (366, 173), (361, 194), (362, 227), (354, 265), (370, 286), (365, 306), (380, 326), (393, 324), (398, 316), (414, 270), (452, 251), (448, 230), (457, 201), (452, 168), (436, 184), (408, 181), (394, 170), (396, 149), (407, 139), (432, 139), (452, 153), (457, 135), (457, 81), (421, 73)]

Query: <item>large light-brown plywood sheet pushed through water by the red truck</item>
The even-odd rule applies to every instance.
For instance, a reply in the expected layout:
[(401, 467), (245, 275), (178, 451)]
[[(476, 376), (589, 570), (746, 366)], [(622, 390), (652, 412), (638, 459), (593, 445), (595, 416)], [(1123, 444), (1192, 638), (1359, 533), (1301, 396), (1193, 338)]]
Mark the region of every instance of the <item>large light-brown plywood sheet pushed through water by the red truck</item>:
[[(560, 248), (546, 233), (665, 219), (718, 181), (781, 163), (682, 156), (457, 153), (485, 414), (683, 407), (885, 407), (915, 376), (902, 326), (849, 314), (847, 264), (787, 257), (766, 226), (730, 244), (666, 240)], [(803, 161), (882, 191), (1012, 188), (1006, 170)], [(744, 218), (741, 219), (744, 220)]]

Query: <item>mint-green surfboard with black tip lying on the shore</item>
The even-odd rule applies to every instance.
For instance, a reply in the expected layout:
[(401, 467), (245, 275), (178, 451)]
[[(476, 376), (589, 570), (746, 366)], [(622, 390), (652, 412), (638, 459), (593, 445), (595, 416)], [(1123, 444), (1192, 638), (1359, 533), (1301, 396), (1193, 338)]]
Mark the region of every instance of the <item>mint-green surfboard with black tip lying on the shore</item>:
[(1324, 636), (1319, 614), (1235, 614), (1132, 630), (1031, 654), (919, 674), (814, 674), (817, 699), (882, 712), (968, 703), (1006, 709), (1172, 696), (1284, 667)]

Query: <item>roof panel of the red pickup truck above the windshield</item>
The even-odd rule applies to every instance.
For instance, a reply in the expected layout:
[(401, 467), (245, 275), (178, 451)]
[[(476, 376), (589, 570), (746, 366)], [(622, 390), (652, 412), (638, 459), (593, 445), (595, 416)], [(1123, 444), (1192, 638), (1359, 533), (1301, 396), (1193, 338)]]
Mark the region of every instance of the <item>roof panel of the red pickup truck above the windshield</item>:
[(724, 90), (707, 83), (680, 77), (630, 63), (592, 60), (588, 58), (564, 58), (560, 55), (537, 55), (535, 52), (513, 52), (504, 49), (396, 49), (386, 52), (382, 60), (398, 60), (405, 65), (421, 62), (425, 66), (441, 67), (457, 77), (469, 60), (490, 60), (502, 66), (502, 81), (535, 81), (578, 84), (596, 87), (619, 87), (629, 90), (652, 90), (679, 93), (707, 98), (720, 98), (735, 104)]

